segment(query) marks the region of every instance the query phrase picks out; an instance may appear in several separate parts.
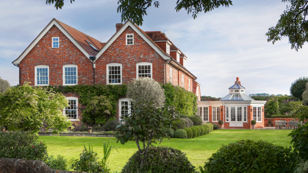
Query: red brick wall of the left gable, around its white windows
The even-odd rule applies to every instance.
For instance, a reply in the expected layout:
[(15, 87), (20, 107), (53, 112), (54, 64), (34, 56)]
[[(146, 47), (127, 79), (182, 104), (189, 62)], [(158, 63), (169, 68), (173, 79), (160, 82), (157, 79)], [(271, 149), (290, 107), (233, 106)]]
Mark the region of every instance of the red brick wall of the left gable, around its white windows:
[[(59, 48), (51, 48), (51, 37), (59, 37)], [(22, 59), (21, 84), (34, 85), (34, 66), (49, 66), (49, 84), (63, 85), (63, 65), (78, 66), (78, 85), (93, 83), (92, 62), (56, 26), (43, 36)]]

